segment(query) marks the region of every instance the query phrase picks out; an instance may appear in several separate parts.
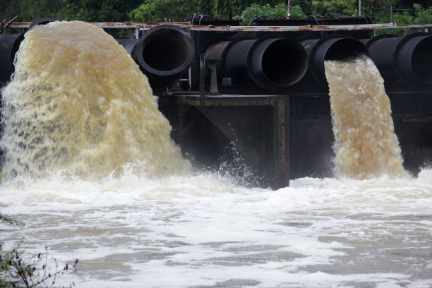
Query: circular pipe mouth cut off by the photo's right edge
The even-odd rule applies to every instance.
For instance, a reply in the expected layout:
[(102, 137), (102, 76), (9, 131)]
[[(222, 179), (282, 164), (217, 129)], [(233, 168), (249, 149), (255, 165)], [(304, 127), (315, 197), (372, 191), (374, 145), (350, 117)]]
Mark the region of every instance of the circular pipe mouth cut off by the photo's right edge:
[[(403, 41), (403, 40), (402, 40)], [(402, 43), (401, 43), (402, 44)], [(432, 36), (412, 37), (397, 52), (397, 66), (414, 80), (432, 85)]]

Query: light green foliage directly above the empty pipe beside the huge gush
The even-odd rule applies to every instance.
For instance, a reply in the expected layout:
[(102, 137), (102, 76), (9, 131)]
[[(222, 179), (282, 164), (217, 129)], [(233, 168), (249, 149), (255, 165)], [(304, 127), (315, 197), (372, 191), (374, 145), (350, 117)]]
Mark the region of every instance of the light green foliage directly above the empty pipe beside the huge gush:
[(198, 12), (197, 0), (145, 0), (128, 14), (136, 22), (182, 21)]

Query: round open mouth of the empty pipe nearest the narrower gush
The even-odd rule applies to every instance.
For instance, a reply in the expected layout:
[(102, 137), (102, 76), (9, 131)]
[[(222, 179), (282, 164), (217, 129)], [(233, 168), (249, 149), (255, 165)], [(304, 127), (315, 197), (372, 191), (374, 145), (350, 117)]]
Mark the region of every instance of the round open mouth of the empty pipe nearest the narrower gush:
[(308, 68), (306, 50), (299, 42), (284, 38), (258, 42), (251, 61), (260, 85), (268, 88), (293, 85)]

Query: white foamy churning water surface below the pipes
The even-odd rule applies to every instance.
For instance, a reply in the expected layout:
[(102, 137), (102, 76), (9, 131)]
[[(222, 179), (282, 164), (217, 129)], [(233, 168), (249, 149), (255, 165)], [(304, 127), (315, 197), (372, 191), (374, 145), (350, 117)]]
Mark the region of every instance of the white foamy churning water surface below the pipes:
[[(432, 184), (313, 179), (270, 191), (212, 174), (9, 179), (6, 247), (45, 245), (78, 287), (427, 287)], [(219, 286), (217, 286), (219, 285)]]

